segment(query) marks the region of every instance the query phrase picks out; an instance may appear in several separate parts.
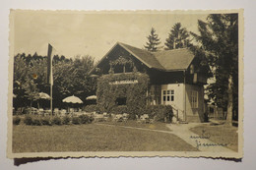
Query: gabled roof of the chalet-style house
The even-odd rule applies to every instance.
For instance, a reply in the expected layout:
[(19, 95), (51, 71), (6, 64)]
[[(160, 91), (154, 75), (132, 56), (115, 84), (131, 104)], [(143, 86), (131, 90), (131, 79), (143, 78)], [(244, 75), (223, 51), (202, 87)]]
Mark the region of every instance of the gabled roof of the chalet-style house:
[[(158, 52), (149, 52), (125, 43), (117, 42), (99, 61), (99, 63), (107, 57), (107, 55), (117, 46), (120, 45), (135, 58), (140, 60), (149, 68), (162, 71), (186, 70), (194, 59), (193, 53), (187, 48), (165, 50)], [(96, 66), (97, 67), (97, 66)], [(95, 68), (96, 68), (95, 67)], [(95, 70), (95, 68), (93, 70)], [(92, 71), (93, 71), (92, 70)], [(90, 73), (92, 73), (92, 71)]]

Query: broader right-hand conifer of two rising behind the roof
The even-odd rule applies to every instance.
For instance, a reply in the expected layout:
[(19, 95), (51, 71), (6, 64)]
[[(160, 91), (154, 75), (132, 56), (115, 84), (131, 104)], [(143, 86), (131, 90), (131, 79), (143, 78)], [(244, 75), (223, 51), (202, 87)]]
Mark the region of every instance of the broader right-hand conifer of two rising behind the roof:
[(189, 33), (186, 28), (181, 28), (180, 23), (176, 23), (166, 38), (165, 50), (184, 48), (190, 46)]

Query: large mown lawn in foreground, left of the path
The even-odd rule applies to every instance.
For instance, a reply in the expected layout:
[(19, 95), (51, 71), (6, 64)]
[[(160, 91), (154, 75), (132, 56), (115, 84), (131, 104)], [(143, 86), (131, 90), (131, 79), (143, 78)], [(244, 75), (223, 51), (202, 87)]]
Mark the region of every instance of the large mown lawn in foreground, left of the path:
[[(150, 125), (149, 125), (150, 126)], [(26, 126), (13, 129), (13, 152), (42, 151), (196, 151), (172, 134), (118, 126)]]

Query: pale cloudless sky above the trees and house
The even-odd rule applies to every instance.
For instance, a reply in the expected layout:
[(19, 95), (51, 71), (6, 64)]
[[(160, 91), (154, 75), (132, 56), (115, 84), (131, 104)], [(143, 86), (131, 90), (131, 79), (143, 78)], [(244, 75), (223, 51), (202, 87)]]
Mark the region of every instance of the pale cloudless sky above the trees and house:
[(14, 54), (47, 54), (50, 43), (56, 53), (66, 57), (91, 55), (99, 60), (117, 42), (144, 48), (151, 28), (160, 45), (176, 23), (198, 33), (198, 20), (206, 14), (171, 12), (68, 12), (15, 11)]

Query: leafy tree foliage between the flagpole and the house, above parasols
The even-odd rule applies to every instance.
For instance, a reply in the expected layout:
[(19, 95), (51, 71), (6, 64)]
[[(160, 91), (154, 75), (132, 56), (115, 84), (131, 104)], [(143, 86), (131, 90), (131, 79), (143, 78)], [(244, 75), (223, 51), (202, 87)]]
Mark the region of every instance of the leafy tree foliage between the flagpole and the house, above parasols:
[(53, 89), (60, 92), (55, 94), (59, 101), (73, 94), (85, 101), (88, 95), (95, 94), (96, 80), (88, 75), (93, 66), (94, 58), (91, 56), (77, 56), (74, 61), (56, 63)]

